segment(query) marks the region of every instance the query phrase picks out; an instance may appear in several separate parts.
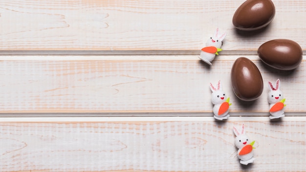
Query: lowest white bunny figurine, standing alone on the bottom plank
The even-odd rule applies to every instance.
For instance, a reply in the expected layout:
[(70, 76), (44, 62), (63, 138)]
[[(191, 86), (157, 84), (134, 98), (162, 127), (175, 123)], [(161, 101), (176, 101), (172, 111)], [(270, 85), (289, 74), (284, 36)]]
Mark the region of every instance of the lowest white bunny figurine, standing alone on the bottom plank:
[(253, 158), (253, 149), (255, 149), (253, 145), (255, 141), (250, 143), (250, 139), (245, 134), (244, 124), (240, 132), (235, 127), (233, 127), (233, 131), (236, 135), (235, 145), (238, 148), (237, 155), (240, 159), (240, 164), (248, 165), (249, 163), (253, 163), (255, 160)]

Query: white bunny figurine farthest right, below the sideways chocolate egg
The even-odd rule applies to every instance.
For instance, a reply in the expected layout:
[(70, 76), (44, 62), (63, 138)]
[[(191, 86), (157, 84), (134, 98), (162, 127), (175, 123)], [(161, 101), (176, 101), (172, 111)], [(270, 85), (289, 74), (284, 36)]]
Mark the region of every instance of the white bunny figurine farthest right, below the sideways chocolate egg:
[(269, 93), (268, 93), (268, 102), (270, 104), (270, 119), (280, 118), (285, 116), (284, 107), (286, 106), (284, 104), (285, 100), (283, 92), (280, 90), (280, 79), (277, 79), (275, 86), (272, 85), (271, 82), (268, 82), (269, 84)]

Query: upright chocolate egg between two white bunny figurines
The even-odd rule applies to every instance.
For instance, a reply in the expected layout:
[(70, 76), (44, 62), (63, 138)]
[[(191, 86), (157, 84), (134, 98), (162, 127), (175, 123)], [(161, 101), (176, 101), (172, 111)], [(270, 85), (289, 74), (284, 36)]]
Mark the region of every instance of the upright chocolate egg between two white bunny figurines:
[(245, 57), (232, 66), (231, 81), (236, 96), (243, 101), (256, 100), (263, 90), (262, 74), (257, 66)]

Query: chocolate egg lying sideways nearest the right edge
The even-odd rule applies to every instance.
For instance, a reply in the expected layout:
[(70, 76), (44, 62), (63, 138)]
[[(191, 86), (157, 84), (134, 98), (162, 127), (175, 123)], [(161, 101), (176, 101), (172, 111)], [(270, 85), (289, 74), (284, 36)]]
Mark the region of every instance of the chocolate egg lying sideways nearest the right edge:
[(271, 40), (263, 43), (257, 52), (263, 63), (281, 70), (295, 69), (303, 60), (301, 46), (294, 41), (286, 39)]

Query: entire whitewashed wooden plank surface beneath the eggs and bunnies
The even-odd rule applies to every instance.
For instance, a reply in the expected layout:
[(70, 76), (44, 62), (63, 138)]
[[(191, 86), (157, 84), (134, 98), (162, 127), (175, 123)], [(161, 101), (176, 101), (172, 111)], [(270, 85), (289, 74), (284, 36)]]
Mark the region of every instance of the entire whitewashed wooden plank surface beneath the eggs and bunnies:
[[(306, 0), (274, 0), (264, 29), (242, 32), (244, 0), (1, 0), (0, 172), (306, 171), (306, 64), (280, 71), (258, 47), (290, 39), (306, 52)], [(212, 66), (198, 59), (226, 31)], [(234, 94), (238, 57), (260, 69), (253, 102)], [(305, 55), (304, 55), (305, 58)], [(281, 80), (285, 117), (269, 119), (268, 81)], [(231, 98), (212, 117), (209, 83)], [(233, 126), (255, 140), (240, 165)]]

